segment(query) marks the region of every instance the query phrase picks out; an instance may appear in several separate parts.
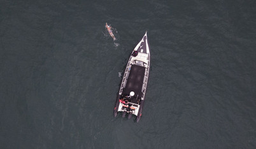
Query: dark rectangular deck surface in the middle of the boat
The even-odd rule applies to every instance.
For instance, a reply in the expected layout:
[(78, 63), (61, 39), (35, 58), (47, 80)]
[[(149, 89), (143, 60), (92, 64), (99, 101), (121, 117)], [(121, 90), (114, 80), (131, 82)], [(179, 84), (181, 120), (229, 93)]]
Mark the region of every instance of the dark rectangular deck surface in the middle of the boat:
[(138, 95), (138, 97), (141, 97), (144, 75), (145, 67), (132, 65), (126, 86), (124, 88), (124, 94), (128, 95), (131, 91), (134, 91), (134, 96)]

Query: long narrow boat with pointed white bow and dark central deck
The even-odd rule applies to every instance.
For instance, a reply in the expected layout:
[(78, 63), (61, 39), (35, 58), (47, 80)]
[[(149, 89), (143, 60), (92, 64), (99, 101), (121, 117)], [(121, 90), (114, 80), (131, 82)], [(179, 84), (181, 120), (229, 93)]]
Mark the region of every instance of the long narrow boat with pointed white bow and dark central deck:
[(148, 86), (150, 72), (150, 47), (147, 32), (133, 49), (125, 67), (125, 72), (120, 84), (114, 116), (122, 112), (122, 117), (131, 119), (136, 116), (136, 122), (141, 119), (143, 105)]

